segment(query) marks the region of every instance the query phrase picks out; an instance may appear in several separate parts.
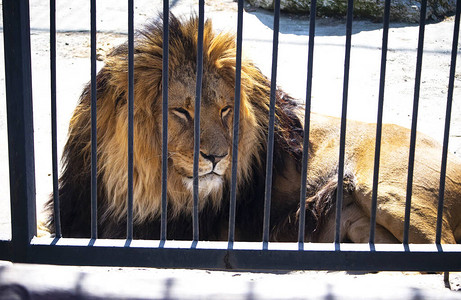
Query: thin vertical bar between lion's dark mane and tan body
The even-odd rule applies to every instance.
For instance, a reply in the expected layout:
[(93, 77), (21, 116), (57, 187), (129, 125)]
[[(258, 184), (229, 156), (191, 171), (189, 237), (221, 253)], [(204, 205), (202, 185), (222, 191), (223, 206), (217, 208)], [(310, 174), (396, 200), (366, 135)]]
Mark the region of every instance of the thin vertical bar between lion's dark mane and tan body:
[(312, 70), (314, 66), (314, 38), (315, 38), (315, 17), (317, 0), (311, 0), (309, 17), (309, 49), (307, 54), (307, 85), (306, 85), (306, 106), (304, 109), (304, 141), (301, 173), (301, 194), (299, 199), (299, 249), (304, 247), (304, 235), (306, 225), (306, 185), (307, 185), (307, 163), (309, 157), (309, 130), (311, 117), (311, 94), (312, 94)]

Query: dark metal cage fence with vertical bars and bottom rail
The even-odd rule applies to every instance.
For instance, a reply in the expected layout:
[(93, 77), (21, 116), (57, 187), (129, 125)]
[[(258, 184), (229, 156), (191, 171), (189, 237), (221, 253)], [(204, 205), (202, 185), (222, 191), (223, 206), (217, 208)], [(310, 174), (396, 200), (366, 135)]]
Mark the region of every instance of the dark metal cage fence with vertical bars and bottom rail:
[[(169, 15), (169, 2), (163, 2), (163, 15)], [(316, 21), (316, 0), (311, 1), (309, 22), (308, 72), (306, 89), (306, 117), (304, 120), (304, 149), (307, 149), (310, 125), (311, 89), (314, 60), (314, 38)], [(0, 259), (13, 262), (47, 263), (66, 265), (101, 265), (101, 266), (143, 266), (164, 268), (207, 268), (207, 269), (318, 269), (318, 270), (415, 270), (415, 271), (460, 271), (460, 245), (442, 245), (440, 243), (441, 222), (443, 214), (443, 197), (445, 187), (445, 171), (447, 164), (448, 137), (450, 128), (451, 106), (453, 99), (455, 65), (461, 14), (461, 0), (457, 0), (456, 16), (453, 30), (453, 46), (449, 75), (448, 99), (445, 118), (442, 167), (439, 187), (439, 206), (436, 228), (436, 242), (429, 245), (408, 243), (410, 222), (410, 204), (412, 194), (412, 178), (414, 152), (416, 142), (416, 127), (418, 116), (419, 89), (424, 44), (424, 29), (427, 0), (421, 1), (421, 18), (419, 25), (419, 40), (417, 51), (416, 79), (414, 90), (413, 119), (411, 128), (411, 144), (407, 181), (407, 200), (403, 244), (375, 244), (375, 225), (377, 190), (379, 174), (379, 158), (381, 145), (382, 113), (384, 102), (384, 86), (386, 74), (387, 41), (390, 18), (390, 0), (385, 0), (383, 17), (383, 40), (381, 73), (378, 97), (378, 116), (376, 127), (376, 147), (374, 161), (374, 182), (372, 194), (370, 240), (368, 244), (340, 243), (340, 220), (342, 207), (342, 184), (344, 174), (346, 114), (349, 84), (349, 65), (351, 53), (351, 35), (353, 20), (353, 0), (348, 0), (346, 20), (346, 47), (344, 63), (344, 85), (342, 102), (342, 119), (340, 134), (338, 193), (336, 210), (335, 242), (331, 244), (305, 243), (305, 198), (306, 173), (308, 166), (307, 151), (302, 157), (302, 181), (300, 193), (300, 222), (297, 243), (269, 242), (269, 212), (271, 204), (271, 184), (274, 144), (274, 108), (277, 78), (278, 34), (280, 18), (280, 1), (274, 5), (274, 31), (271, 73), (271, 98), (269, 113), (269, 133), (267, 146), (266, 192), (264, 204), (263, 239), (261, 242), (236, 242), (235, 207), (237, 181), (237, 155), (232, 157), (232, 183), (230, 189), (229, 236), (227, 242), (205, 242), (199, 240), (198, 214), (198, 153), (200, 139), (200, 99), (203, 68), (203, 28), (204, 1), (199, 1), (199, 32), (197, 55), (197, 81), (195, 102), (195, 139), (194, 139), (194, 182), (193, 182), (193, 236), (191, 241), (167, 240), (167, 128), (166, 114), (163, 114), (163, 148), (162, 148), (162, 213), (161, 233), (158, 241), (133, 240), (133, 105), (134, 105), (134, 26), (133, 0), (128, 0), (128, 213), (127, 238), (125, 240), (98, 239), (97, 234), (97, 199), (96, 199), (96, 1), (91, 0), (91, 121), (92, 121), (92, 221), (90, 239), (61, 238), (59, 198), (58, 198), (58, 167), (56, 142), (56, 24), (55, 0), (50, 1), (50, 53), (51, 53), (51, 107), (52, 107), (52, 157), (53, 157), (53, 191), (54, 211), (56, 220), (56, 237), (54, 239), (38, 239), (35, 220), (35, 170), (34, 170), (34, 136), (31, 85), (31, 54), (30, 54), (30, 24), (28, 0), (4, 0), (3, 24), (5, 47), (6, 96), (8, 117), (8, 149), (10, 167), (11, 195), (11, 225), (12, 239), (0, 241)], [(237, 154), (239, 137), (239, 107), (241, 83), (241, 50), (243, 30), (243, 0), (238, 1), (237, 22), (237, 59), (235, 113), (233, 119), (233, 153)], [(163, 36), (163, 86), (168, 85), (168, 18), (164, 18)], [(168, 89), (163, 89), (162, 108), (168, 108)]]

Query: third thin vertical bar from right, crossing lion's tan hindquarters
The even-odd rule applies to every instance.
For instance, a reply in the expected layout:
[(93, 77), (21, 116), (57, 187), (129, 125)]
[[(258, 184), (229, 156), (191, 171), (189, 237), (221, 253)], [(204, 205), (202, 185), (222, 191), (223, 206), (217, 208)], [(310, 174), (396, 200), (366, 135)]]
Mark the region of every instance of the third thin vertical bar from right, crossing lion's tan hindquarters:
[(381, 157), (381, 136), (383, 127), (384, 87), (386, 82), (387, 44), (389, 37), (391, 1), (384, 2), (383, 43), (381, 47), (381, 74), (379, 77), (378, 117), (376, 121), (375, 162), (373, 169), (373, 192), (371, 195), (370, 237), (369, 243), (375, 242), (376, 208), (378, 203), (379, 158)]

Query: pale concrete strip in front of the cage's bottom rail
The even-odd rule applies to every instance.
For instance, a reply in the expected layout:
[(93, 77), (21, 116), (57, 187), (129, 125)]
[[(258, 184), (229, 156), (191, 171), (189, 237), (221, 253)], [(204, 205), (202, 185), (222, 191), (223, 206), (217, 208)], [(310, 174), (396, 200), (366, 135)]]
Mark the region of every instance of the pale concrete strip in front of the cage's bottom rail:
[(461, 299), (461, 274), (450, 277), (446, 286), (443, 274), (250, 273), (0, 262), (0, 300)]

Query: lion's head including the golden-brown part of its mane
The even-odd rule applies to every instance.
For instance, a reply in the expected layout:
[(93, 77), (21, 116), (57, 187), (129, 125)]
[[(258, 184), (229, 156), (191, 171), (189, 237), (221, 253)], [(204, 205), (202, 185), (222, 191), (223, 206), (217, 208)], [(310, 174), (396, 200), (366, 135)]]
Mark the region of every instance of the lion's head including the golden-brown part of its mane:
[[(170, 21), (168, 83), (168, 214), (191, 213), (196, 120), (196, 39), (194, 20)], [(198, 152), (199, 209), (219, 209), (230, 183), (235, 87), (235, 43), (230, 34), (214, 34), (206, 23)], [(162, 185), (162, 28), (149, 27), (139, 36), (134, 60), (133, 214), (136, 222), (158, 217)], [(116, 48), (99, 73), (98, 164), (109, 213), (121, 218), (127, 189), (127, 48)], [(237, 192), (251, 179), (266, 124), (269, 97), (265, 78), (242, 61)], [(88, 87), (89, 90), (89, 87)], [(267, 90), (267, 91), (266, 91)], [(85, 106), (90, 103), (85, 92)], [(89, 107), (89, 106), (88, 106)], [(116, 107), (116, 110), (114, 110)], [(89, 111), (85, 108), (85, 113)], [(89, 124), (85, 119), (84, 124)], [(75, 128), (80, 128), (75, 126)], [(85, 127), (89, 130), (90, 127)], [(88, 148), (90, 149), (90, 148)]]

